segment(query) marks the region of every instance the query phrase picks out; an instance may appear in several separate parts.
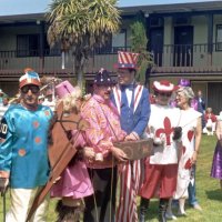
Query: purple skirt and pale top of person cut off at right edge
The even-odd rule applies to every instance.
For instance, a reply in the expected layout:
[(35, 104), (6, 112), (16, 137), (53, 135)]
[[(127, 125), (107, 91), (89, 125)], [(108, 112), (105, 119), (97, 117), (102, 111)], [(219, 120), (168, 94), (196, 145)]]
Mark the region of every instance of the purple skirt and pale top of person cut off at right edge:
[(220, 143), (220, 140), (222, 139), (222, 120), (219, 120), (216, 123), (216, 137), (219, 141), (216, 142), (214, 150), (211, 176), (222, 180), (222, 145)]

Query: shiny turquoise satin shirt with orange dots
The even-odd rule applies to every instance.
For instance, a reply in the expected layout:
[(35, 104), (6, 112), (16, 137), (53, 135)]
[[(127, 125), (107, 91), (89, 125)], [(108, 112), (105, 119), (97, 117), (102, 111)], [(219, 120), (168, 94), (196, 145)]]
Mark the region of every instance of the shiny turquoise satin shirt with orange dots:
[(44, 185), (49, 178), (48, 128), (52, 111), (38, 105), (29, 111), (11, 105), (1, 120), (0, 173), (10, 174), (13, 189)]

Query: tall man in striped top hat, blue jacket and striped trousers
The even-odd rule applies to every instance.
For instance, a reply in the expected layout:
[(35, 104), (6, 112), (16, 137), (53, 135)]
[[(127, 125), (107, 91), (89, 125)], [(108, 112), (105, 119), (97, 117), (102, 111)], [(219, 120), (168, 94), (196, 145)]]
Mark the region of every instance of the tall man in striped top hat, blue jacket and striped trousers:
[[(150, 117), (149, 92), (135, 82), (138, 53), (119, 51), (118, 84), (113, 88), (112, 101), (120, 114), (121, 128), (127, 132), (125, 141), (140, 140)], [(141, 178), (141, 161), (128, 161), (120, 165), (120, 202), (117, 222), (138, 221), (137, 194)], [(132, 205), (132, 208), (129, 208)]]

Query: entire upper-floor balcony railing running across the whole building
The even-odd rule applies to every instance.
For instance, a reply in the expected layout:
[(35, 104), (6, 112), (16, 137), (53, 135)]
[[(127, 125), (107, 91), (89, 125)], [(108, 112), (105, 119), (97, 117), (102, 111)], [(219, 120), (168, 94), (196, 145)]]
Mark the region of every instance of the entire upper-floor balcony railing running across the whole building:
[[(113, 64), (117, 63), (119, 50), (130, 51), (130, 48), (109, 47), (94, 50), (87, 61), (84, 72), (94, 73), (101, 67), (114, 72)], [(222, 71), (222, 43), (165, 44), (162, 49), (153, 49), (152, 53), (153, 74)], [(31, 67), (39, 73), (70, 74), (73, 59), (71, 53), (62, 58), (59, 50), (0, 51), (0, 77), (18, 75), (26, 67)]]

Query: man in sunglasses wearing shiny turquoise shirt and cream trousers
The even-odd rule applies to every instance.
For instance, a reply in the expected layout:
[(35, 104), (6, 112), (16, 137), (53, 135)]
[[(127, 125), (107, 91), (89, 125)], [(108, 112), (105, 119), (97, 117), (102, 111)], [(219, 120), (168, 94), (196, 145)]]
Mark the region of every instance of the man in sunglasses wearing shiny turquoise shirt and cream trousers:
[[(40, 79), (26, 69), (19, 80), (21, 103), (9, 107), (1, 120), (0, 178), (10, 184), (7, 222), (26, 221), (33, 198), (49, 179), (48, 128), (52, 112), (38, 104)], [(1, 189), (3, 189), (3, 184)], [(32, 220), (46, 221), (47, 199)]]

